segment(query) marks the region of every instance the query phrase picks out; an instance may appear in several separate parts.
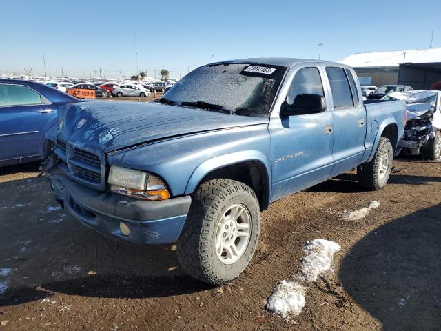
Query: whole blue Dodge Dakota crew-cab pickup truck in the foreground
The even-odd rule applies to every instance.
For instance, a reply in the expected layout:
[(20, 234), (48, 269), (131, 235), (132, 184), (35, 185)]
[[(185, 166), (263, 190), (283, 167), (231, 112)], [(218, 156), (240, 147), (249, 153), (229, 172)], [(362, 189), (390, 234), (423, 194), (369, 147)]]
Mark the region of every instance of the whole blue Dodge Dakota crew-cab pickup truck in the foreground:
[(71, 103), (47, 137), (55, 199), (131, 243), (175, 243), (182, 268), (222, 284), (243, 272), (269, 204), (357, 168), (386, 185), (404, 101), (363, 104), (353, 70), (239, 59), (190, 72), (151, 103)]

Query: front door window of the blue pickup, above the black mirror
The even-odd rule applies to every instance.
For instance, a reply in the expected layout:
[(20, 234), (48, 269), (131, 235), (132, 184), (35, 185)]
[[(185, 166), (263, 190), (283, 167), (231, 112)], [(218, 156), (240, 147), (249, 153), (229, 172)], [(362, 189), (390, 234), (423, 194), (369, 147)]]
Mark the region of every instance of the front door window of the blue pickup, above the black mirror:
[(301, 68), (296, 72), (289, 87), (287, 103), (293, 104), (298, 94), (318, 94), (322, 97), (325, 96), (318, 68)]

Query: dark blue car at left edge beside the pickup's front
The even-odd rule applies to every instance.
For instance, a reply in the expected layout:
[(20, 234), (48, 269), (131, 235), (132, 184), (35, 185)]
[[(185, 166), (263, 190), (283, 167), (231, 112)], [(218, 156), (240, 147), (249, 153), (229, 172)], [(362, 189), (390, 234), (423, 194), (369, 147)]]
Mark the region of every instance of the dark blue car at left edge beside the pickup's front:
[(0, 166), (45, 158), (45, 132), (57, 112), (78, 99), (34, 81), (0, 79)]

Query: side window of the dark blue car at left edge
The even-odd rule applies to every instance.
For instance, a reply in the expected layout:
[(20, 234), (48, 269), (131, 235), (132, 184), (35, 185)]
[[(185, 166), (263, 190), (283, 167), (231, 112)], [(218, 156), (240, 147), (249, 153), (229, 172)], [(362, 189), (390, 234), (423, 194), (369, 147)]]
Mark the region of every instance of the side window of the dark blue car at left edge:
[(37, 105), (41, 96), (22, 85), (0, 84), (0, 106)]

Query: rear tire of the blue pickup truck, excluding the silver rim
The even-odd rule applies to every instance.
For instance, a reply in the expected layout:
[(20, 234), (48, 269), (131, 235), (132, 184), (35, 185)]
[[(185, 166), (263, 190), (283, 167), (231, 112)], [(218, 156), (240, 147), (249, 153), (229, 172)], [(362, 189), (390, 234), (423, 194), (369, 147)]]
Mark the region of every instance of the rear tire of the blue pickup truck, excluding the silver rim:
[[(386, 174), (383, 178), (380, 178), (379, 168), (381, 162), (381, 155), (384, 150), (389, 150), (389, 165)], [(378, 147), (373, 156), (373, 159), (367, 163), (362, 163), (357, 167), (358, 183), (362, 185), (363, 188), (368, 190), (379, 190), (384, 187), (389, 180), (389, 175), (391, 174), (393, 159), (393, 148), (391, 141), (385, 137), (381, 137), (378, 142)]]

